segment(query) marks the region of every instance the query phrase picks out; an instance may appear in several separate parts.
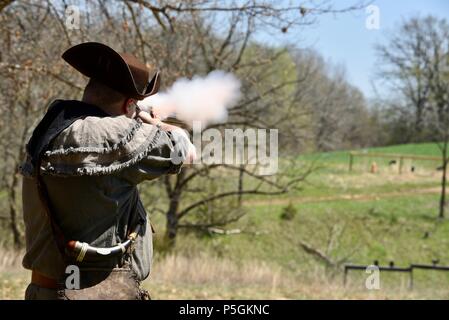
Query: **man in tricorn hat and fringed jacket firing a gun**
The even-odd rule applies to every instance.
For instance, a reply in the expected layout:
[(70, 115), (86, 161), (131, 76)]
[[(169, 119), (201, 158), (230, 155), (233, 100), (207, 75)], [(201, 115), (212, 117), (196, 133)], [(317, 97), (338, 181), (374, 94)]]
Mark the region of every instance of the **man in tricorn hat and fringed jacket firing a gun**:
[[(158, 91), (160, 75), (150, 80), (134, 56), (89, 42), (62, 57), (90, 80), (81, 101), (52, 103), (27, 144), (25, 298), (145, 298), (152, 227), (137, 185), (179, 172), (194, 156), (190, 141), (136, 106)], [(68, 270), (79, 271), (70, 288)]]

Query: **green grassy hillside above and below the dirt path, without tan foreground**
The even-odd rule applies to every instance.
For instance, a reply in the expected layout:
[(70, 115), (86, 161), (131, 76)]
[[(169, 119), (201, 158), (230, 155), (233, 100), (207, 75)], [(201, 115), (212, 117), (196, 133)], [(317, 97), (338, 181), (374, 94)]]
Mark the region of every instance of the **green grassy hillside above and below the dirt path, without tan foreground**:
[[(373, 148), (369, 152), (434, 156), (439, 150), (434, 144), (415, 144)], [(317, 270), (326, 273), (326, 268), (301, 248), (301, 241), (325, 252), (335, 262), (371, 264), (378, 260), (382, 265), (394, 261), (408, 266), (438, 259), (440, 264), (449, 265), (449, 221), (437, 219), (441, 173), (423, 165), (416, 172), (399, 175), (380, 162), (376, 174), (363, 166), (348, 172), (347, 159), (347, 152), (299, 157), (299, 163), (315, 161), (320, 167), (300, 191), (276, 197), (271, 203), (267, 198), (247, 197), (247, 215), (229, 226), (242, 229), (241, 234), (188, 234), (176, 250), (208, 252), (229, 257), (235, 263), (264, 261), (302, 280), (313, 278)], [(289, 202), (298, 213), (292, 221), (283, 221), (279, 217)], [(331, 238), (334, 245), (328, 247)], [(334, 279), (342, 277), (338, 270), (332, 273)], [(360, 282), (359, 275), (350, 276)], [(407, 282), (394, 274), (384, 280), (390, 289), (399, 283), (404, 287)], [(449, 273), (417, 272), (413, 295), (448, 297), (448, 286)]]

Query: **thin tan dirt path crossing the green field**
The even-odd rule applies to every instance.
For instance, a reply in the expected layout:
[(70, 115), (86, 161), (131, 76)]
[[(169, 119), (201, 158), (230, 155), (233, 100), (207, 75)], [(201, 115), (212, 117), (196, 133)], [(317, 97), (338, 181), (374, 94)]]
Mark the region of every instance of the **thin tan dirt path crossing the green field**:
[(396, 198), (408, 195), (417, 194), (434, 194), (439, 193), (441, 189), (439, 187), (425, 188), (425, 189), (412, 189), (398, 192), (388, 192), (388, 193), (376, 193), (376, 194), (340, 194), (336, 196), (322, 196), (322, 197), (296, 197), (296, 198), (285, 198), (285, 199), (256, 199), (256, 200), (246, 200), (245, 205), (287, 205), (289, 203), (301, 204), (301, 203), (316, 203), (316, 202), (330, 202), (330, 201), (369, 201), (369, 200), (380, 200), (385, 198)]

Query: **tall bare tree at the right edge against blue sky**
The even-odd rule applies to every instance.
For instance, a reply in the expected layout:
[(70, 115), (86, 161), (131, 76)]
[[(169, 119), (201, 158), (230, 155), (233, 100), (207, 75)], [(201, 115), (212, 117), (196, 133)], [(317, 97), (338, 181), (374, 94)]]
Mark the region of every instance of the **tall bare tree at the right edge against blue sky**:
[[(435, 141), (442, 153), (439, 217), (446, 207), (449, 139), (449, 24), (432, 16), (403, 23), (390, 43), (379, 46), (389, 67), (382, 74), (401, 90), (407, 106), (415, 109), (413, 134)], [(418, 139), (422, 136), (418, 136)]]

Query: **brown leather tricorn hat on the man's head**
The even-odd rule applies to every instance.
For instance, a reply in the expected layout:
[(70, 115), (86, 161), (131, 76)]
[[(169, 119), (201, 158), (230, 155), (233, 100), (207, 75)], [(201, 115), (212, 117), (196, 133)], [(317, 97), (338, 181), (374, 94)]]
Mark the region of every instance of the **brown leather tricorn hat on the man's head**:
[(76, 70), (94, 78), (127, 97), (142, 100), (159, 90), (160, 75), (150, 70), (136, 57), (118, 53), (98, 42), (86, 42), (71, 47), (62, 58)]

